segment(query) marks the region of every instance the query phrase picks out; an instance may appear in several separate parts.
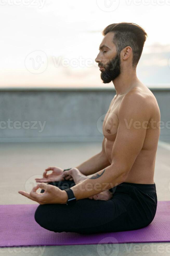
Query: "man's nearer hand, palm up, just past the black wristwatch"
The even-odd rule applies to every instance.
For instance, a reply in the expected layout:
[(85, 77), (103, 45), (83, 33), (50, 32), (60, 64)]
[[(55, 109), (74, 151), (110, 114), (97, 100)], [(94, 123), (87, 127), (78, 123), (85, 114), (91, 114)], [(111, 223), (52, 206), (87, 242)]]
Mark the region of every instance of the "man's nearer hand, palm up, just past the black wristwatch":
[[(44, 193), (37, 193), (38, 188), (44, 189)], [(67, 203), (67, 192), (59, 189), (56, 186), (38, 183), (30, 193), (27, 193), (23, 190), (18, 191), (19, 194), (28, 197), (29, 199), (38, 202), (40, 205), (47, 203)]]

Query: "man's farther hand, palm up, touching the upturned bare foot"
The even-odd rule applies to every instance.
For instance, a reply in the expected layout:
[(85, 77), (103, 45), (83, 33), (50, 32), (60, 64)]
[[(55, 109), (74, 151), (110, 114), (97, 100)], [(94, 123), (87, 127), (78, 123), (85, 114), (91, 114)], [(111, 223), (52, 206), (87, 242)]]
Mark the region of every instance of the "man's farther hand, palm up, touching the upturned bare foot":
[[(53, 171), (53, 172), (51, 174), (47, 174), (48, 171)], [(45, 172), (43, 172), (43, 178), (35, 178), (35, 180), (36, 182), (64, 181), (62, 174), (63, 174), (63, 169), (55, 166), (48, 167), (47, 169), (45, 169)], [(73, 180), (73, 178), (71, 177), (70, 180)]]

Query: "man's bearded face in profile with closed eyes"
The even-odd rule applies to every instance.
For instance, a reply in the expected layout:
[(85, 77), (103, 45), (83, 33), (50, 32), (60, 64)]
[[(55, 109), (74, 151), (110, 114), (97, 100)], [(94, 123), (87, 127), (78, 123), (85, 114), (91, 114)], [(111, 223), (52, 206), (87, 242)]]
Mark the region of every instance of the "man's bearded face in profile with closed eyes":
[(116, 52), (116, 46), (112, 42), (114, 33), (109, 32), (104, 36), (100, 47), (99, 54), (95, 61), (101, 67), (100, 77), (104, 84), (110, 83), (120, 74), (120, 54)]

